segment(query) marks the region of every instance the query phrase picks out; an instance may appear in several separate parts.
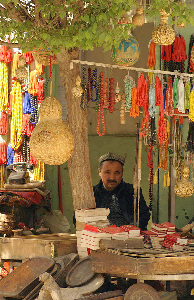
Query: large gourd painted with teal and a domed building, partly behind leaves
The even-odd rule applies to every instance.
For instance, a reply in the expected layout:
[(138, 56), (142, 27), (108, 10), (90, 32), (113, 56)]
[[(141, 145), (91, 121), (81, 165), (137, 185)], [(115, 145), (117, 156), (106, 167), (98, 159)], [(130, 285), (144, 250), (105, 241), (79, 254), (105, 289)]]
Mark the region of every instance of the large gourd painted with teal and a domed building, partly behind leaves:
[[(120, 26), (127, 26), (131, 20), (127, 16), (123, 16), (119, 20)], [(131, 66), (135, 64), (140, 56), (140, 46), (136, 38), (132, 35), (131, 30), (128, 30), (128, 39), (122, 40), (118, 48), (113, 47), (110, 51), (111, 57), (115, 64), (122, 66)]]

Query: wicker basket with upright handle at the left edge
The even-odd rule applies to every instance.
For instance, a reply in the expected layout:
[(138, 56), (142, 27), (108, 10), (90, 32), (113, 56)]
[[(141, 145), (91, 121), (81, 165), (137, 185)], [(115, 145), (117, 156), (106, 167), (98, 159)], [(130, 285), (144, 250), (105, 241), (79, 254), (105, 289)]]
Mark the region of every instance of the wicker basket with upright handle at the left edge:
[(13, 215), (14, 202), (12, 213), (0, 211), (0, 233), (10, 235), (15, 227), (15, 218)]

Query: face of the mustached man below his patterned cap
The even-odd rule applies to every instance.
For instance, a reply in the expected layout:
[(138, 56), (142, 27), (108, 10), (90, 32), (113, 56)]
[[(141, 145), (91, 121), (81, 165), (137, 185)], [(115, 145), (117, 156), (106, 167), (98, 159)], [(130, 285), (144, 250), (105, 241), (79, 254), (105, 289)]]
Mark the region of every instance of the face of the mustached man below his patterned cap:
[(106, 190), (113, 190), (122, 180), (123, 167), (118, 161), (104, 161), (98, 171)]

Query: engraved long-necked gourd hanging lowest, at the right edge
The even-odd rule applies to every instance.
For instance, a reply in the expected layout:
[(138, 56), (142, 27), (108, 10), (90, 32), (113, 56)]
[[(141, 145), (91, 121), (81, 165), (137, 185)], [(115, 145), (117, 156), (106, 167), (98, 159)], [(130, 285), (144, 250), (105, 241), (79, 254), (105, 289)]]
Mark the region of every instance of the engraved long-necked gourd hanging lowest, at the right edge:
[(190, 197), (193, 195), (194, 187), (189, 180), (189, 167), (183, 166), (181, 180), (175, 185), (175, 194), (179, 197)]

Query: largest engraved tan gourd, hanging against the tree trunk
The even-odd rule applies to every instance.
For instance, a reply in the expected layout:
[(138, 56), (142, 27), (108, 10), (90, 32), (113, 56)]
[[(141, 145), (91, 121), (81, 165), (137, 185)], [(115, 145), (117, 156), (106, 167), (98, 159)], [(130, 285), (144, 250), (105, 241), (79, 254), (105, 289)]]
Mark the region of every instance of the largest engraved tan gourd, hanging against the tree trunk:
[(40, 121), (30, 138), (30, 151), (48, 165), (60, 165), (72, 155), (73, 135), (62, 121), (62, 107), (54, 97), (46, 97), (40, 104)]

